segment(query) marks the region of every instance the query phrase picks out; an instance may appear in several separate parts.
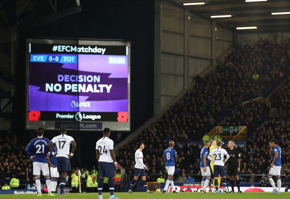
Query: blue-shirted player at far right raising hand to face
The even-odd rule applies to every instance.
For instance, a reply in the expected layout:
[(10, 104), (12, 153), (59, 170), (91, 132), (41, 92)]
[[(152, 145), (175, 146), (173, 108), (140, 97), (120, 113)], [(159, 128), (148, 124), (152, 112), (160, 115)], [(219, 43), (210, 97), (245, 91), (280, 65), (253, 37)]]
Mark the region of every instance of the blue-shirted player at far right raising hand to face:
[[(280, 188), (281, 188), (281, 178), (280, 178), (280, 172), (281, 172), (281, 148), (277, 145), (278, 142), (275, 139), (270, 140), (270, 156), (273, 156), (273, 161), (271, 163), (271, 169), (269, 170), (268, 178), (269, 182), (271, 183), (273, 187), (273, 191), (271, 194), (280, 194)], [(277, 178), (277, 185), (278, 190), (276, 189), (275, 182), (272, 179), (272, 176), (275, 175)]]

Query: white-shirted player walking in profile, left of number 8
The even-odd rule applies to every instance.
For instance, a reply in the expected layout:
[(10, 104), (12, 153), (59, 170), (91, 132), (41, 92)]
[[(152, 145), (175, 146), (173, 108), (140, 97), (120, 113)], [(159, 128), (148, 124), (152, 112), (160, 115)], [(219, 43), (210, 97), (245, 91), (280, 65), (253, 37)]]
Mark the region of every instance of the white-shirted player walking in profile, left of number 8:
[(128, 191), (129, 194), (133, 194), (133, 187), (135, 182), (139, 179), (139, 177), (141, 177), (142, 180), (142, 185), (143, 187), (146, 189), (147, 193), (153, 193), (152, 191), (149, 191), (147, 184), (146, 184), (146, 175), (145, 175), (145, 170), (149, 170), (148, 167), (146, 165), (144, 165), (143, 163), (143, 153), (142, 150), (145, 148), (144, 143), (138, 142), (137, 147), (139, 147), (139, 149), (136, 150), (135, 152), (135, 174), (134, 174), (134, 179), (131, 181), (131, 186), (130, 189)]

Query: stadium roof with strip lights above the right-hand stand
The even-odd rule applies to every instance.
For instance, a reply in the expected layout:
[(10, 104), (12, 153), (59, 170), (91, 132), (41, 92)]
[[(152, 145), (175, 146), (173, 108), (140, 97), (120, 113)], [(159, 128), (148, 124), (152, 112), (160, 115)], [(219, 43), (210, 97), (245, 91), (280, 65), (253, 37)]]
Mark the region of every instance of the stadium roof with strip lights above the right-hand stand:
[[(289, 0), (268, 0), (245, 2), (245, 0), (170, 0), (205, 18), (217, 21), (231, 29), (253, 27), (256, 31), (290, 30), (290, 14), (272, 15), (273, 12), (290, 12)], [(203, 5), (183, 5), (204, 2)], [(213, 15), (232, 15), (226, 18), (210, 18)], [(239, 30), (253, 31), (253, 30)], [(254, 30), (255, 31), (255, 30)]]

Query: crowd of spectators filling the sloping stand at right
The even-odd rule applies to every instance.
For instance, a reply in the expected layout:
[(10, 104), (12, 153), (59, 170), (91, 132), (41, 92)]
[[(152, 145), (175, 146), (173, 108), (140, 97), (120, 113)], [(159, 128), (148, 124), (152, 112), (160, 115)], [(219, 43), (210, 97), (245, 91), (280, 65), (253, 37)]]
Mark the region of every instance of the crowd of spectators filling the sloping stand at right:
[[(146, 145), (143, 162), (150, 168), (147, 180), (154, 181), (158, 175), (166, 174), (163, 151), (168, 147), (169, 140), (174, 140), (179, 143), (176, 146), (176, 173), (180, 176), (179, 180), (185, 180), (190, 174), (200, 174), (200, 149), (195, 141), (201, 140), (205, 133), (218, 124), (246, 125), (249, 135), (247, 148), (238, 147), (243, 157), (240, 173), (248, 175), (241, 176), (242, 181), (259, 182), (261, 176), (255, 177), (252, 174), (262, 175), (269, 172), (268, 142), (272, 137), (283, 148), (285, 165), (282, 166), (282, 173), (287, 174), (290, 168), (290, 131), (286, 126), (289, 123), (290, 111), (285, 107), (289, 106), (290, 99), (287, 81), (290, 74), (289, 50), (288, 41), (278, 45), (277, 42), (270, 43), (261, 38), (256, 45), (246, 44), (243, 48), (235, 43), (232, 52), (224, 63), (218, 64), (214, 73), (207, 74), (204, 78), (197, 75), (194, 88), (169, 108), (156, 123), (119, 149), (118, 162), (128, 174), (134, 174), (136, 143), (142, 140)], [(275, 99), (275, 103), (279, 104), (276, 106), (272, 103), (272, 108), (277, 107), (273, 116), (270, 116), (269, 103), (253, 100), (267, 98), (270, 94), (270, 99)], [(249, 103), (242, 106), (245, 101)], [(274, 132), (271, 133), (269, 127)], [(198, 176), (194, 178), (196, 181), (201, 180)], [(288, 177), (286, 181), (287, 179)]]

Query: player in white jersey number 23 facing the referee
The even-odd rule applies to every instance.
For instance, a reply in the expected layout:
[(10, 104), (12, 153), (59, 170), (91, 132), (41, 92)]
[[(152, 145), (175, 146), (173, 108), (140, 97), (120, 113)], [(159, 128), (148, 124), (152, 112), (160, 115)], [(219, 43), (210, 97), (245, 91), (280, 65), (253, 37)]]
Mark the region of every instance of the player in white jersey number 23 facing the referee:
[[(208, 159), (210, 156), (214, 156), (214, 186), (216, 191), (214, 193), (221, 193), (221, 190), (218, 191), (218, 175), (221, 175), (223, 178), (223, 191), (228, 193), (226, 190), (227, 179), (226, 179), (226, 172), (224, 170), (224, 163), (230, 158), (229, 154), (225, 149), (221, 148), (221, 140), (217, 141), (218, 148), (212, 149), (209, 153)], [(224, 161), (224, 156), (227, 156), (226, 160)]]

